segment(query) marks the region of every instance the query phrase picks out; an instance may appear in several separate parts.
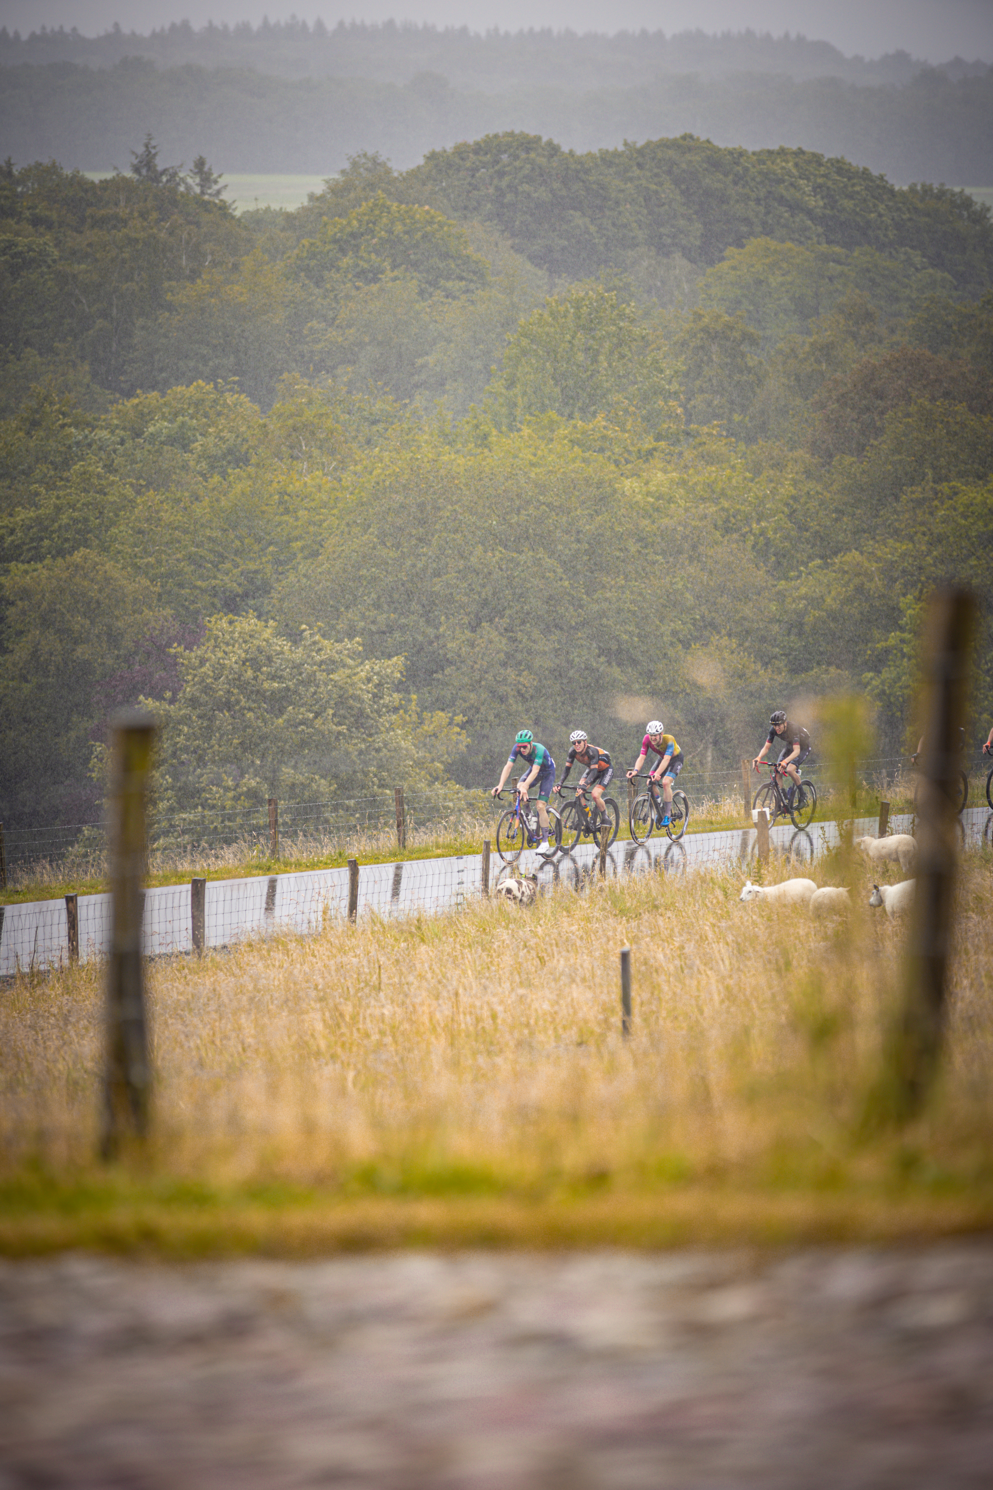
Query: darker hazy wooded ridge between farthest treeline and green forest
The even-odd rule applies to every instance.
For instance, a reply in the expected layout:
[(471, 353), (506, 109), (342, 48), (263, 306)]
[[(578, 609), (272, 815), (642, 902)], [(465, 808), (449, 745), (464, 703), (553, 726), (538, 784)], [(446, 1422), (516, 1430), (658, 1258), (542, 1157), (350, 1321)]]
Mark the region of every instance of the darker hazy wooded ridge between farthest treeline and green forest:
[(177, 159), (202, 150), (228, 171), (331, 176), (360, 150), (406, 168), (427, 150), (506, 130), (551, 136), (578, 150), (692, 133), (746, 149), (788, 145), (841, 155), (904, 183), (984, 186), (993, 72), (954, 79), (930, 69), (905, 86), (798, 82), (761, 72), (658, 73), (636, 86), (588, 89), (529, 77), (484, 92), (453, 88), (436, 70), (400, 85), (194, 64), (159, 69), (149, 57), (107, 70), (79, 63), (0, 69), (0, 155), (16, 162), (127, 165), (134, 140), (152, 131)]

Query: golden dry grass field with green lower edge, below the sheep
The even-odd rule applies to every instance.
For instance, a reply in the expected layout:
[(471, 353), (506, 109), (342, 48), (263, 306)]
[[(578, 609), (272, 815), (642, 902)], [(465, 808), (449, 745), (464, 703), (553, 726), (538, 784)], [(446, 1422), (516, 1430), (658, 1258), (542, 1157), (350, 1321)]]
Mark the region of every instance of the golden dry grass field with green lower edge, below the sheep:
[(905, 928), (858, 866), (813, 878), (844, 873), (847, 922), (743, 906), (737, 875), (652, 875), (150, 964), (155, 1135), (113, 1168), (92, 1159), (101, 971), (21, 977), (0, 1004), (0, 1250), (989, 1228), (993, 861), (965, 866), (942, 1077), (899, 1134), (862, 1113)]

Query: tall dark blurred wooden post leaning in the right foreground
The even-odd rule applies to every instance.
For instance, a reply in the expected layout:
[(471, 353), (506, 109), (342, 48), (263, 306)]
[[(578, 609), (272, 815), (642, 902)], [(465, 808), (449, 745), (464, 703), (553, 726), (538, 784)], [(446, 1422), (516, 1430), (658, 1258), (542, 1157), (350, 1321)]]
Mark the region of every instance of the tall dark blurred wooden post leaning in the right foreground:
[(959, 729), (966, 718), (975, 602), (939, 590), (925, 621), (925, 746), (917, 821), (917, 890), (904, 1007), (895, 1049), (895, 1116), (920, 1110), (941, 1055), (945, 974), (954, 916)]

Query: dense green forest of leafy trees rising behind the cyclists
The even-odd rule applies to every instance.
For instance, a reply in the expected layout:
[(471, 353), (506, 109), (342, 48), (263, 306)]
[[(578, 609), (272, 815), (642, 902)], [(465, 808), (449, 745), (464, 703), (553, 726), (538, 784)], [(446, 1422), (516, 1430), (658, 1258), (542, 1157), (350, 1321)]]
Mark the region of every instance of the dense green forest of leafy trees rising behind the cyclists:
[(293, 213), (146, 140), (0, 176), (0, 815), (86, 821), (122, 703), (189, 806), (482, 785), (527, 724), (701, 769), (858, 691), (929, 589), (993, 723), (993, 225), (695, 137), (356, 155)]

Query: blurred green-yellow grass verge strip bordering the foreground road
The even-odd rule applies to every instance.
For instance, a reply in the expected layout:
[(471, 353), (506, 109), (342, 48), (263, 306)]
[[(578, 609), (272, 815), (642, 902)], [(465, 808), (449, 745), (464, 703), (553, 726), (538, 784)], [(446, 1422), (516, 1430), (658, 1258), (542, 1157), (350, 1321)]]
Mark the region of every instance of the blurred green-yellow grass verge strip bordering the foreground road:
[(0, 1183), (0, 1255), (68, 1249), (159, 1258), (326, 1256), (384, 1247), (674, 1247), (893, 1243), (993, 1229), (993, 1185), (834, 1186), (609, 1177), (523, 1192), (494, 1176), (374, 1177), (320, 1189), (213, 1188), (122, 1170)]

